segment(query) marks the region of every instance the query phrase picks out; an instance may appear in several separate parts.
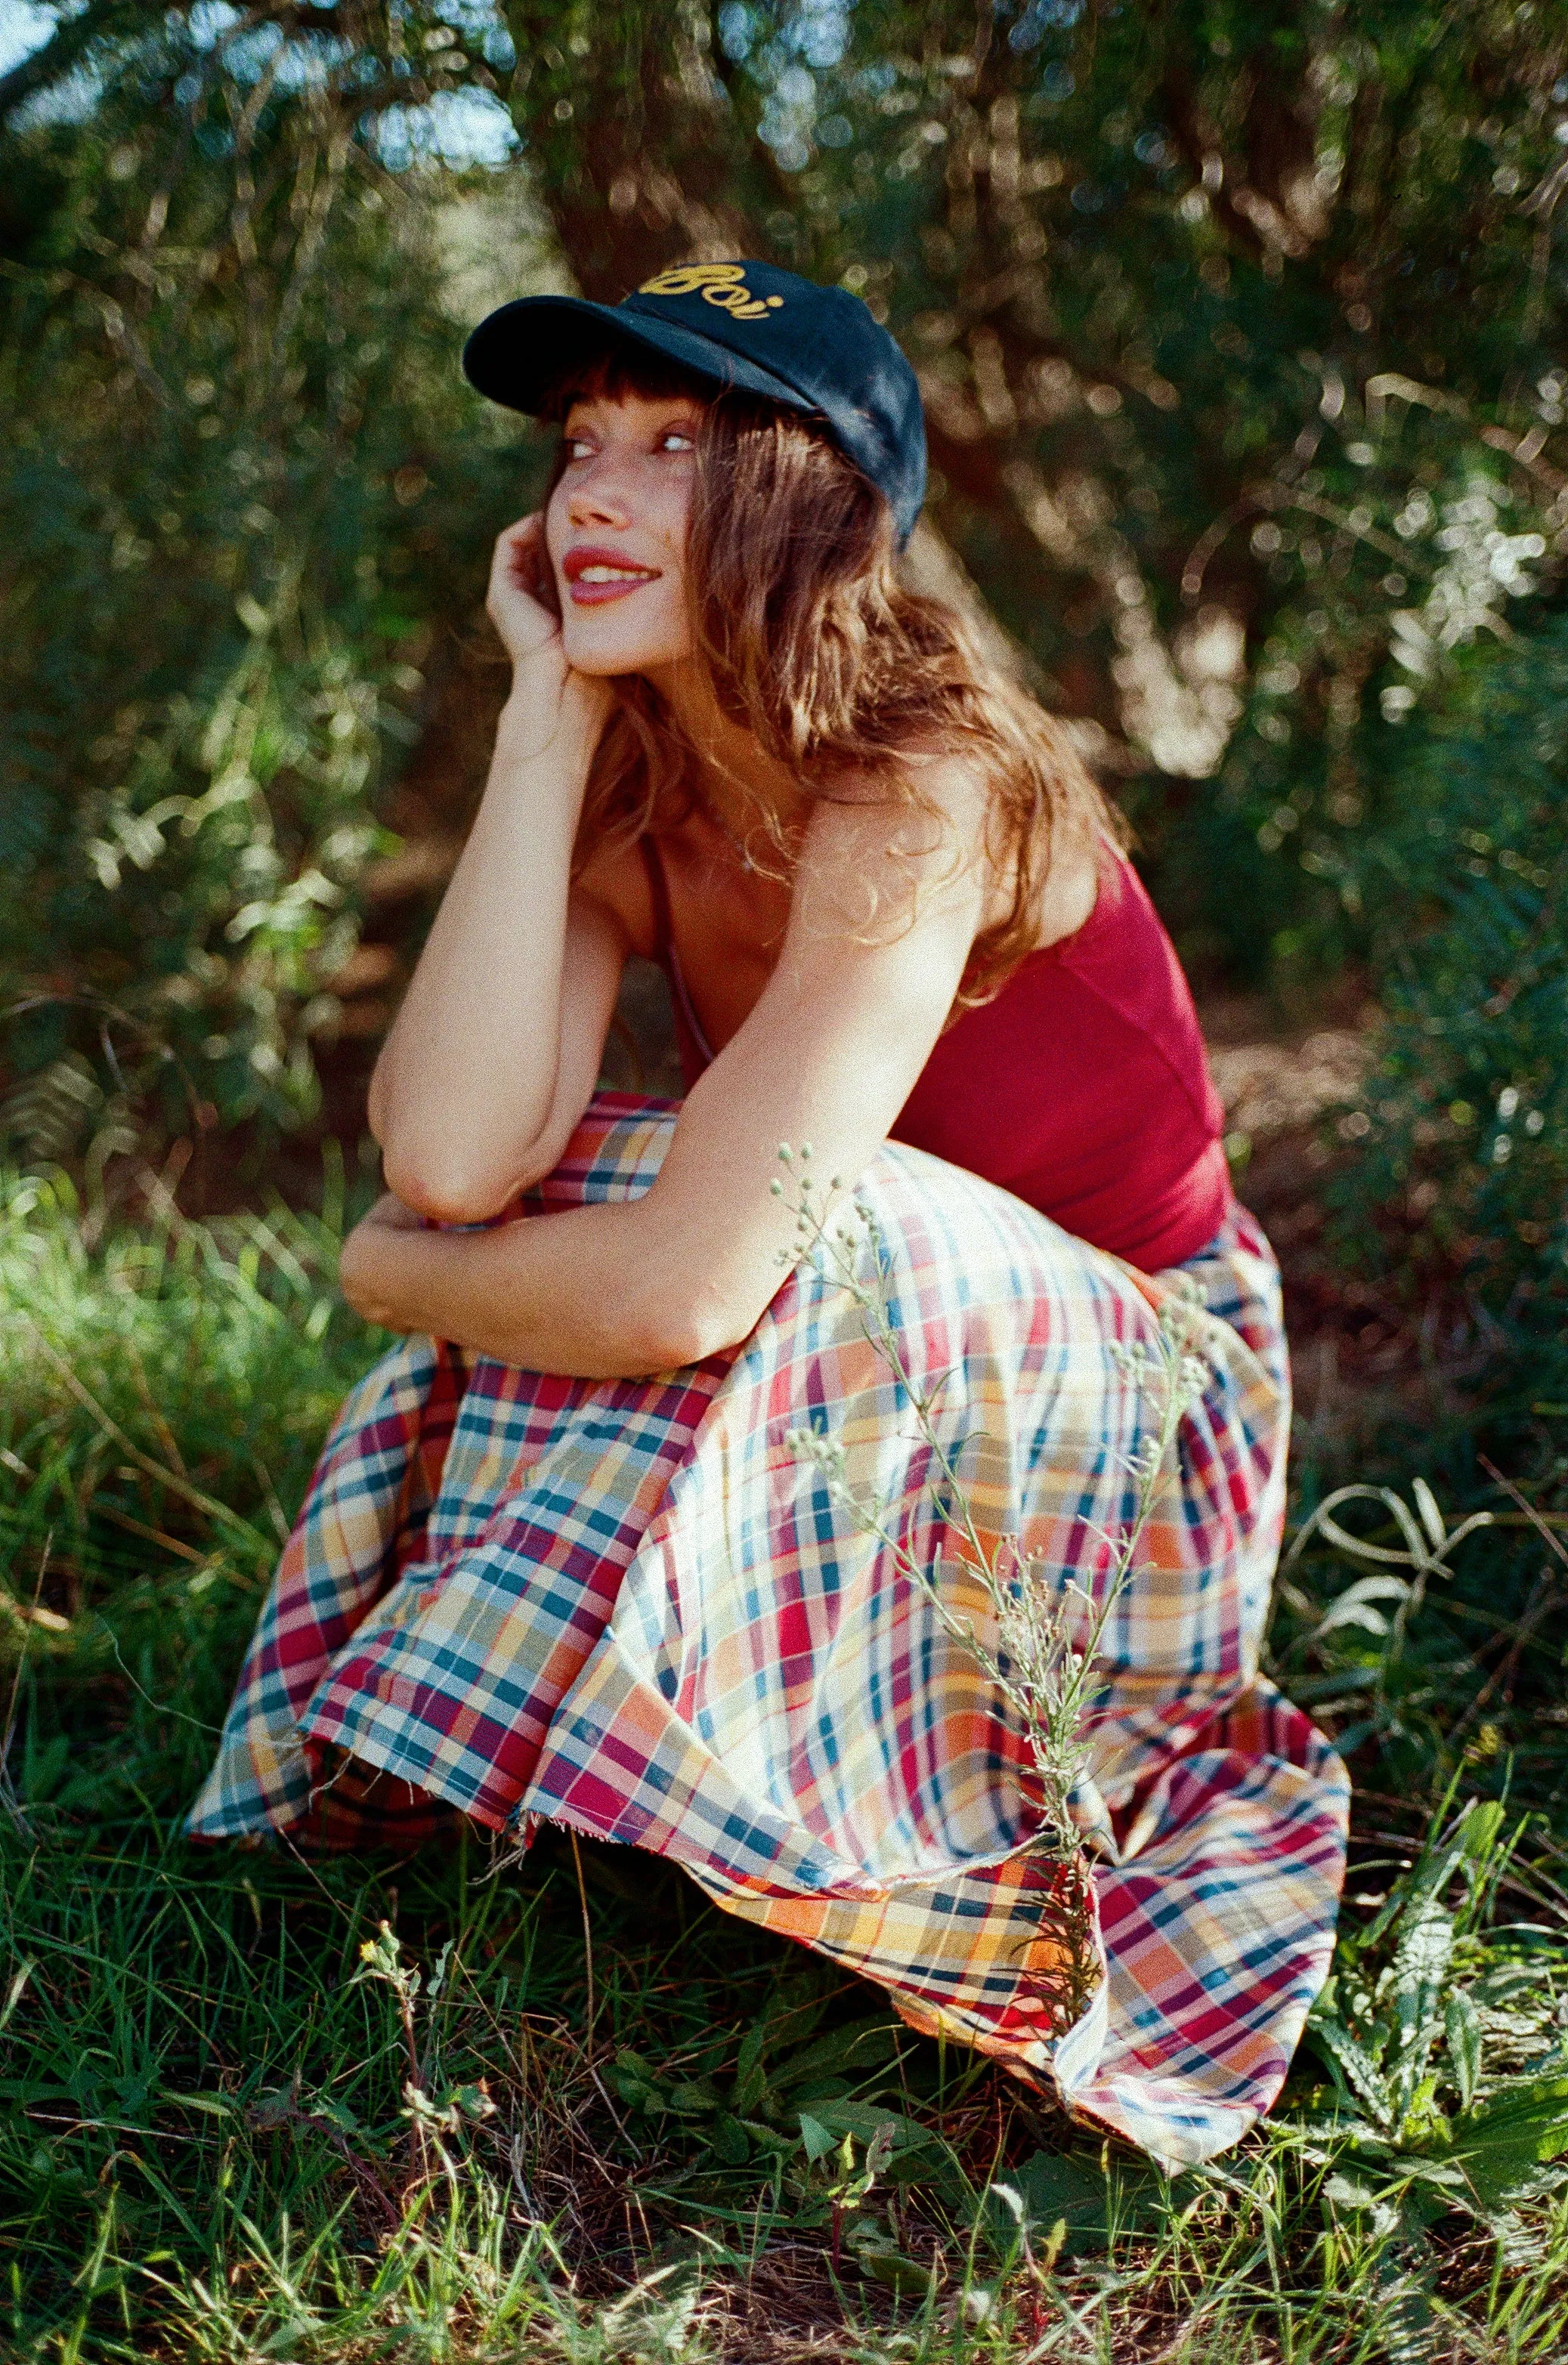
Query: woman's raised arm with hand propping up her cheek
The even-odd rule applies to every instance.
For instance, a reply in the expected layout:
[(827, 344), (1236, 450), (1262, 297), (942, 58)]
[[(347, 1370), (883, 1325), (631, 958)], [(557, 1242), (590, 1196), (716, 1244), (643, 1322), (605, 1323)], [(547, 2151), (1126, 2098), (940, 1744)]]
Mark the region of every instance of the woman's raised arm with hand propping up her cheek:
[[(610, 691), (572, 672), (530, 591), (537, 520), (497, 542), (490, 610), (513, 655), (494, 762), (468, 844), (371, 1078), (369, 1119), (388, 1185), (423, 1216), (497, 1213), (553, 1159), (563, 1029), (582, 1041), (620, 958), (608, 918), (582, 911), (568, 974), (572, 840)], [(608, 986), (608, 1024), (615, 984)], [(568, 1010), (568, 1003), (577, 1005)], [(603, 1048), (603, 1026), (594, 1060)], [(570, 1078), (570, 1093), (577, 1078)], [(594, 1074), (570, 1126), (582, 1114)], [(556, 1152), (558, 1154), (558, 1152)]]

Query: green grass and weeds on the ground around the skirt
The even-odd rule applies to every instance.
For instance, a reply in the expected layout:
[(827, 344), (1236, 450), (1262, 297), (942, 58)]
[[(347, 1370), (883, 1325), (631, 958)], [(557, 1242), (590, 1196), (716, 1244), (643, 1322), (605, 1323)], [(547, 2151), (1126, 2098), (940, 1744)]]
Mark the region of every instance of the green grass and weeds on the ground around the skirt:
[[(1376, 1471), (1398, 1511), (1329, 1514), (1400, 1559), (1305, 1535), (1275, 1653), (1355, 1743), (1336, 1977), (1270, 2121), (1166, 2183), (655, 1859), (180, 1838), (376, 1348), (331, 1289), (341, 1220), (5, 1197), (7, 2365), (1568, 2348), (1544, 1447), (1459, 1499), (1473, 1464), (1436, 1440), (1433, 1495)], [(1336, 1476), (1301, 1473), (1303, 1511)], [(1476, 1507), (1497, 1523), (1454, 1542)]]

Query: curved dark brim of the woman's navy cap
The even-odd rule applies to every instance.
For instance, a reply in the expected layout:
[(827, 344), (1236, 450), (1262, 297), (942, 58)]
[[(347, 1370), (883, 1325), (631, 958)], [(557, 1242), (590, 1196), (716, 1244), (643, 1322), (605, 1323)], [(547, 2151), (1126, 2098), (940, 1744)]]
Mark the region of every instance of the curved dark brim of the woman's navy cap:
[(516, 303), (504, 303), (464, 345), (464, 376), (490, 402), (539, 416), (563, 371), (610, 345), (641, 345), (714, 385), (766, 395), (797, 412), (816, 409), (788, 378), (747, 362), (717, 338), (624, 305), (589, 303), (587, 296), (518, 296)]

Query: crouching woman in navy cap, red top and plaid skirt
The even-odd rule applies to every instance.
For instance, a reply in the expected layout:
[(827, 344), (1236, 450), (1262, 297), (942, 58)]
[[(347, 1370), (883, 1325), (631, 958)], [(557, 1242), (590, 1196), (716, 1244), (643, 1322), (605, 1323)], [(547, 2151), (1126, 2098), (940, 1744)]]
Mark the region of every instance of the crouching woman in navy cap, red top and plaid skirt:
[[(326, 1445), (192, 1828), (629, 1840), (1201, 2159), (1327, 1972), (1343, 1771), (1256, 1677), (1277, 1272), (1175, 955), (1062, 731), (899, 584), (920, 397), (856, 298), (691, 265), (506, 305), (466, 369), (563, 440), (497, 544), (513, 691), (371, 1086), (388, 1194), (343, 1289), (404, 1346)], [(631, 953), (679, 1107), (594, 1095)], [(1031, 1582), (1104, 1589), (1159, 1426), (1128, 1348), (1204, 1303), (1102, 1639), (1074, 1812), (1107, 1970), (1071, 2024), (1026, 1736), (788, 1443), (835, 1428), (974, 1594), (901, 1388), (792, 1253), (780, 1138), (861, 1178), (908, 1376)]]

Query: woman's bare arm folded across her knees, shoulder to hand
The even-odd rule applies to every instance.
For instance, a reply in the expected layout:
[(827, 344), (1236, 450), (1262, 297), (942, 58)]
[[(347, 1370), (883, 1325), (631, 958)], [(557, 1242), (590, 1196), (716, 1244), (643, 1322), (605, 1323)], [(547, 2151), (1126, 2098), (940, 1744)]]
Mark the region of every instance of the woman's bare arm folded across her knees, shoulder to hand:
[[(963, 799), (963, 785), (953, 790)], [(958, 816), (974, 842), (972, 816)], [(981, 920), (979, 868), (946, 858), (875, 806), (811, 818), (778, 967), (683, 1104), (646, 1197), (492, 1232), (369, 1223), (345, 1289), (393, 1329), (423, 1329), (530, 1369), (634, 1376), (738, 1346), (783, 1272), (792, 1220), (771, 1197), (778, 1142), (854, 1178), (887, 1138), (948, 1015)], [(929, 835), (929, 830), (927, 830)], [(911, 925), (885, 913), (908, 899)]]

